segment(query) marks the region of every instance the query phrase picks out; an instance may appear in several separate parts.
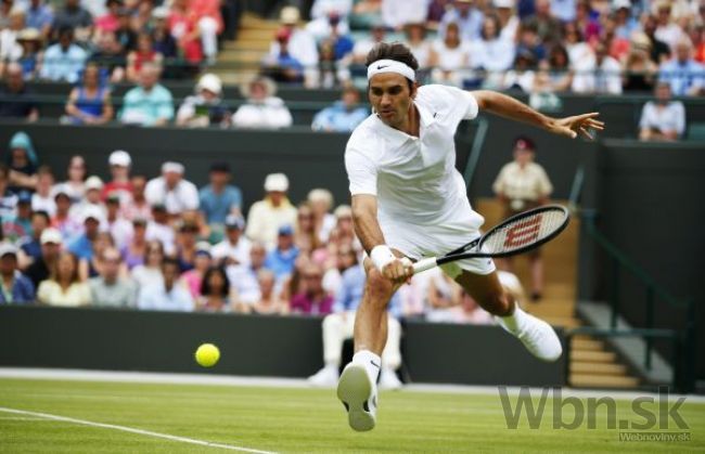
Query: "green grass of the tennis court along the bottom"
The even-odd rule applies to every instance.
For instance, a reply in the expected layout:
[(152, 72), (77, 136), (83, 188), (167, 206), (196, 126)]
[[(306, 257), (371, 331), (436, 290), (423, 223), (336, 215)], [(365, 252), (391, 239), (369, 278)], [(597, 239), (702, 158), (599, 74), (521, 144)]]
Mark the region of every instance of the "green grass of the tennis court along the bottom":
[[(605, 395), (608, 395), (605, 392)], [(585, 400), (582, 400), (585, 402)], [(0, 379), (0, 406), (278, 452), (703, 452), (705, 404), (685, 402), (689, 442), (620, 442), (618, 430), (508, 429), (496, 393), (383, 393), (377, 427), (347, 427), (333, 390)], [(617, 417), (642, 421), (619, 401)], [(569, 420), (571, 415), (564, 415)], [(672, 430), (672, 429), (671, 429)], [(0, 412), (0, 452), (218, 452), (163, 439)]]

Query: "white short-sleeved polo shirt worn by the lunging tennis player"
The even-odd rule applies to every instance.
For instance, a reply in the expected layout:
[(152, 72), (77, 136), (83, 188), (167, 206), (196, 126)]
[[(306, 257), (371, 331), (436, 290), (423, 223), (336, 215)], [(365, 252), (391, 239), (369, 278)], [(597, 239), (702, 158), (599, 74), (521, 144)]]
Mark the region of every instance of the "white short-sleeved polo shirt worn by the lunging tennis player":
[(383, 231), (399, 223), (479, 229), (484, 219), (472, 211), (456, 170), (454, 142), (460, 121), (477, 116), (477, 101), (466, 91), (428, 85), (419, 88), (414, 104), (421, 116), (419, 138), (375, 114), (352, 131), (345, 151), (350, 193), (377, 196)]

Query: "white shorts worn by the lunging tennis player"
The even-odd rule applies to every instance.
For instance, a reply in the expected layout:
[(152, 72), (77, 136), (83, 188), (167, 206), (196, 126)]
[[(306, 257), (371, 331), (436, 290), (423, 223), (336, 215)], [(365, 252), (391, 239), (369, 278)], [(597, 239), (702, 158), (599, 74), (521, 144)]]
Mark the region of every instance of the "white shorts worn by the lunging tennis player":
[[(414, 260), (443, 256), (472, 242), (480, 235), (479, 228), (484, 222), (485, 218), (475, 211), (453, 213), (450, 219), (439, 223), (412, 223), (380, 216), (380, 228), (387, 246)], [(489, 258), (459, 260), (440, 269), (453, 278), (460, 275), (461, 270), (480, 275), (496, 270), (495, 262)]]

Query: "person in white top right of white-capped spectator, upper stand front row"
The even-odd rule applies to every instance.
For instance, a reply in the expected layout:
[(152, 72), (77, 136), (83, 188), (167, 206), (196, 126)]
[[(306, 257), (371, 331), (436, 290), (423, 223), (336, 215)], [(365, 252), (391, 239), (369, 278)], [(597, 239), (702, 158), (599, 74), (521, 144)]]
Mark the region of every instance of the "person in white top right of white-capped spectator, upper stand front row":
[(281, 98), (274, 96), (277, 86), (266, 77), (256, 77), (240, 88), (245, 104), (232, 116), (235, 128), (279, 129), (292, 126), (292, 114)]

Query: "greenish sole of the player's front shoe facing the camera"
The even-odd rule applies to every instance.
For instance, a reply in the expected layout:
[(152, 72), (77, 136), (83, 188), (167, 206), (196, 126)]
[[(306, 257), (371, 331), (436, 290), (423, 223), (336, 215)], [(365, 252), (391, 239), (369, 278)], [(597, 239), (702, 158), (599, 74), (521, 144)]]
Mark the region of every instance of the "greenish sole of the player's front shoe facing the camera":
[(372, 397), (372, 382), (364, 366), (348, 365), (337, 385), (337, 398), (347, 406), (348, 424), (354, 430), (364, 432), (374, 428), (374, 416), (364, 411), (364, 403)]

